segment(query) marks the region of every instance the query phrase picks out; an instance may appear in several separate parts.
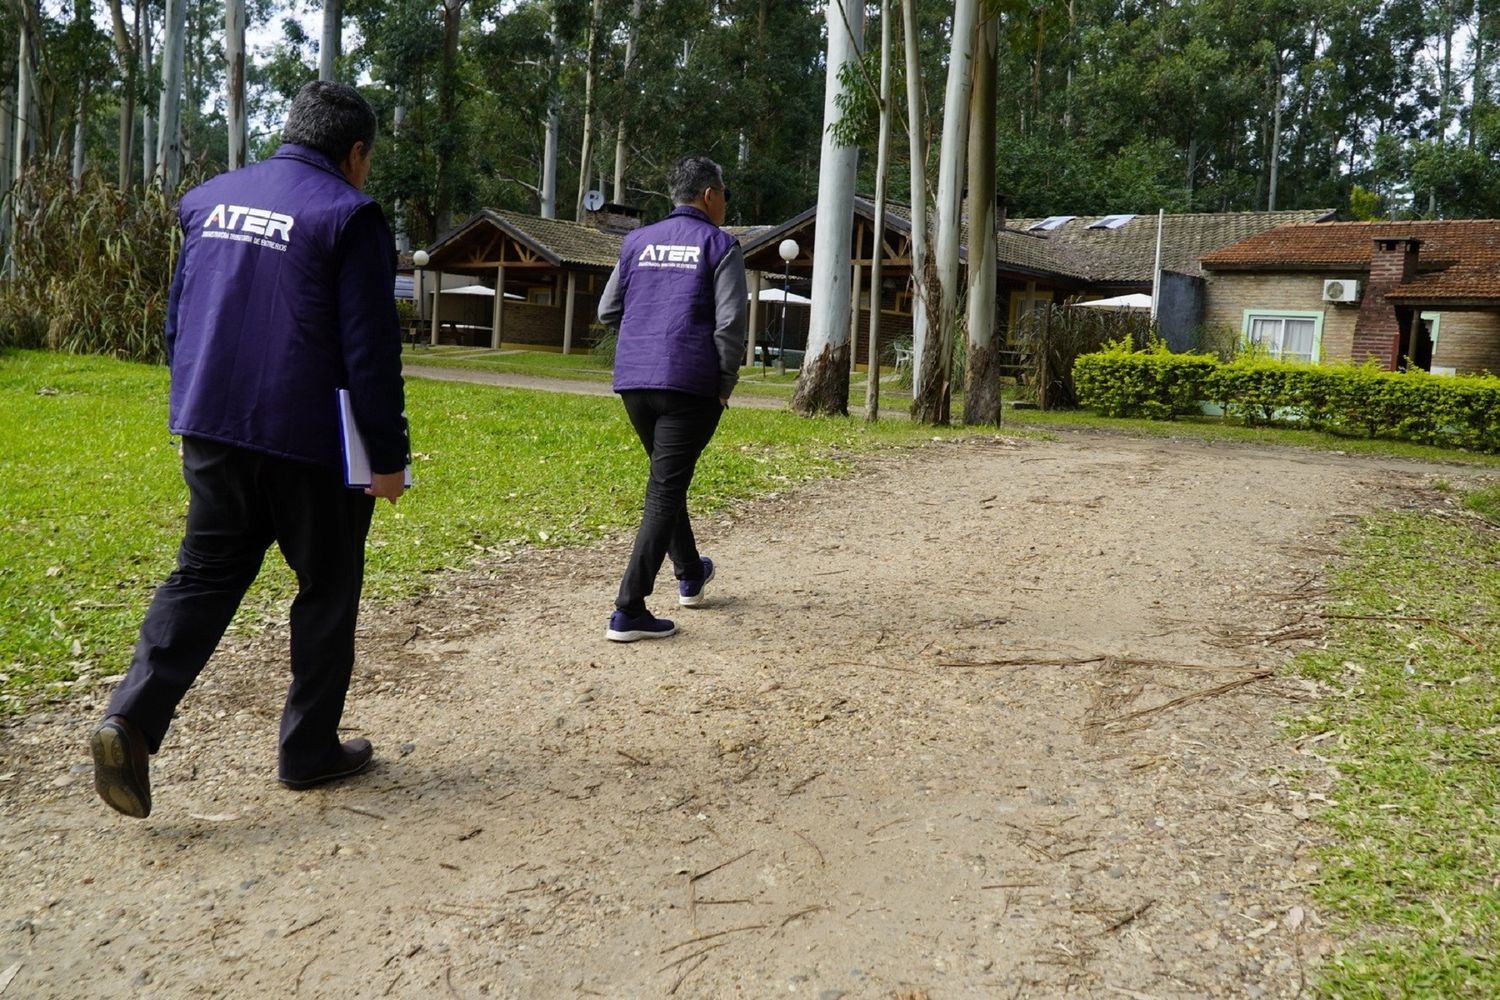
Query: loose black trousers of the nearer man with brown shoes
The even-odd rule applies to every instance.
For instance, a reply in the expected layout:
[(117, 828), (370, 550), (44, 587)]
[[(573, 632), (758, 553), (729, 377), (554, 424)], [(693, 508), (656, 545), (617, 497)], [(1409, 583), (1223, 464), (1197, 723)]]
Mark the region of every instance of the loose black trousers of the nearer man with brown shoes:
[(152, 598), (108, 714), (135, 723), (152, 753), (160, 748), (274, 541), (297, 574), (280, 766), (306, 774), (338, 748), (375, 498), (345, 487), (333, 469), (198, 438), (183, 439), (183, 480), (177, 570)]

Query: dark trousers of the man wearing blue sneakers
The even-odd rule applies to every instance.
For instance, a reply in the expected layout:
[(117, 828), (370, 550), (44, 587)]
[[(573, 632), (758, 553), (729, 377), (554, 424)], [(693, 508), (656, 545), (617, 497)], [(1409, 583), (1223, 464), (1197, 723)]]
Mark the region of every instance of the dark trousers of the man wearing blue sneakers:
[(672, 558), (676, 579), (699, 580), (704, 576), (693, 523), (687, 516), (687, 487), (693, 483), (698, 456), (714, 436), (724, 408), (717, 399), (666, 390), (627, 390), (620, 397), (651, 457), (640, 528), (615, 598), (620, 610), (640, 612), (656, 589), (666, 556)]

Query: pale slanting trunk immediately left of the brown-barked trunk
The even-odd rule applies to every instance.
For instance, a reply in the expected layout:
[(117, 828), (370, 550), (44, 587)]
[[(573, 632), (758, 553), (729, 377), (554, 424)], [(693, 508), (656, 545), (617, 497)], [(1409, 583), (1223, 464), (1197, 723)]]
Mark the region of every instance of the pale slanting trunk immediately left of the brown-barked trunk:
[(958, 237), (963, 177), (968, 165), (969, 88), (974, 79), (975, 21), (980, 0), (956, 0), (944, 96), (942, 150), (938, 156), (938, 238), (933, 259), (938, 273), (936, 336), (927, 340), (922, 382), (912, 417), (946, 424), (951, 405), (952, 342), (958, 325)]

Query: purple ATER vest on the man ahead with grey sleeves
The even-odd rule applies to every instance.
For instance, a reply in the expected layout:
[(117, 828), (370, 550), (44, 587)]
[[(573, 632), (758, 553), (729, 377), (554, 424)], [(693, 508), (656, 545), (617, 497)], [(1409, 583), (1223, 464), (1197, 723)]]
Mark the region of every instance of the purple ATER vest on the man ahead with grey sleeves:
[(624, 312), (615, 391), (668, 388), (718, 397), (714, 273), (735, 246), (692, 205), (626, 234), (616, 283)]

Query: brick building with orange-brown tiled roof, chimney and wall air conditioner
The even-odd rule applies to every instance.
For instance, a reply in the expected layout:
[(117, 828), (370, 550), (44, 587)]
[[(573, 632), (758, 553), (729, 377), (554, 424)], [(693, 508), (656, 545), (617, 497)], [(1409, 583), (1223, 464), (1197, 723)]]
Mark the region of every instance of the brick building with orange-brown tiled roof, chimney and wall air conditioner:
[(1500, 372), (1500, 220), (1286, 225), (1202, 262), (1206, 322), (1274, 354)]

